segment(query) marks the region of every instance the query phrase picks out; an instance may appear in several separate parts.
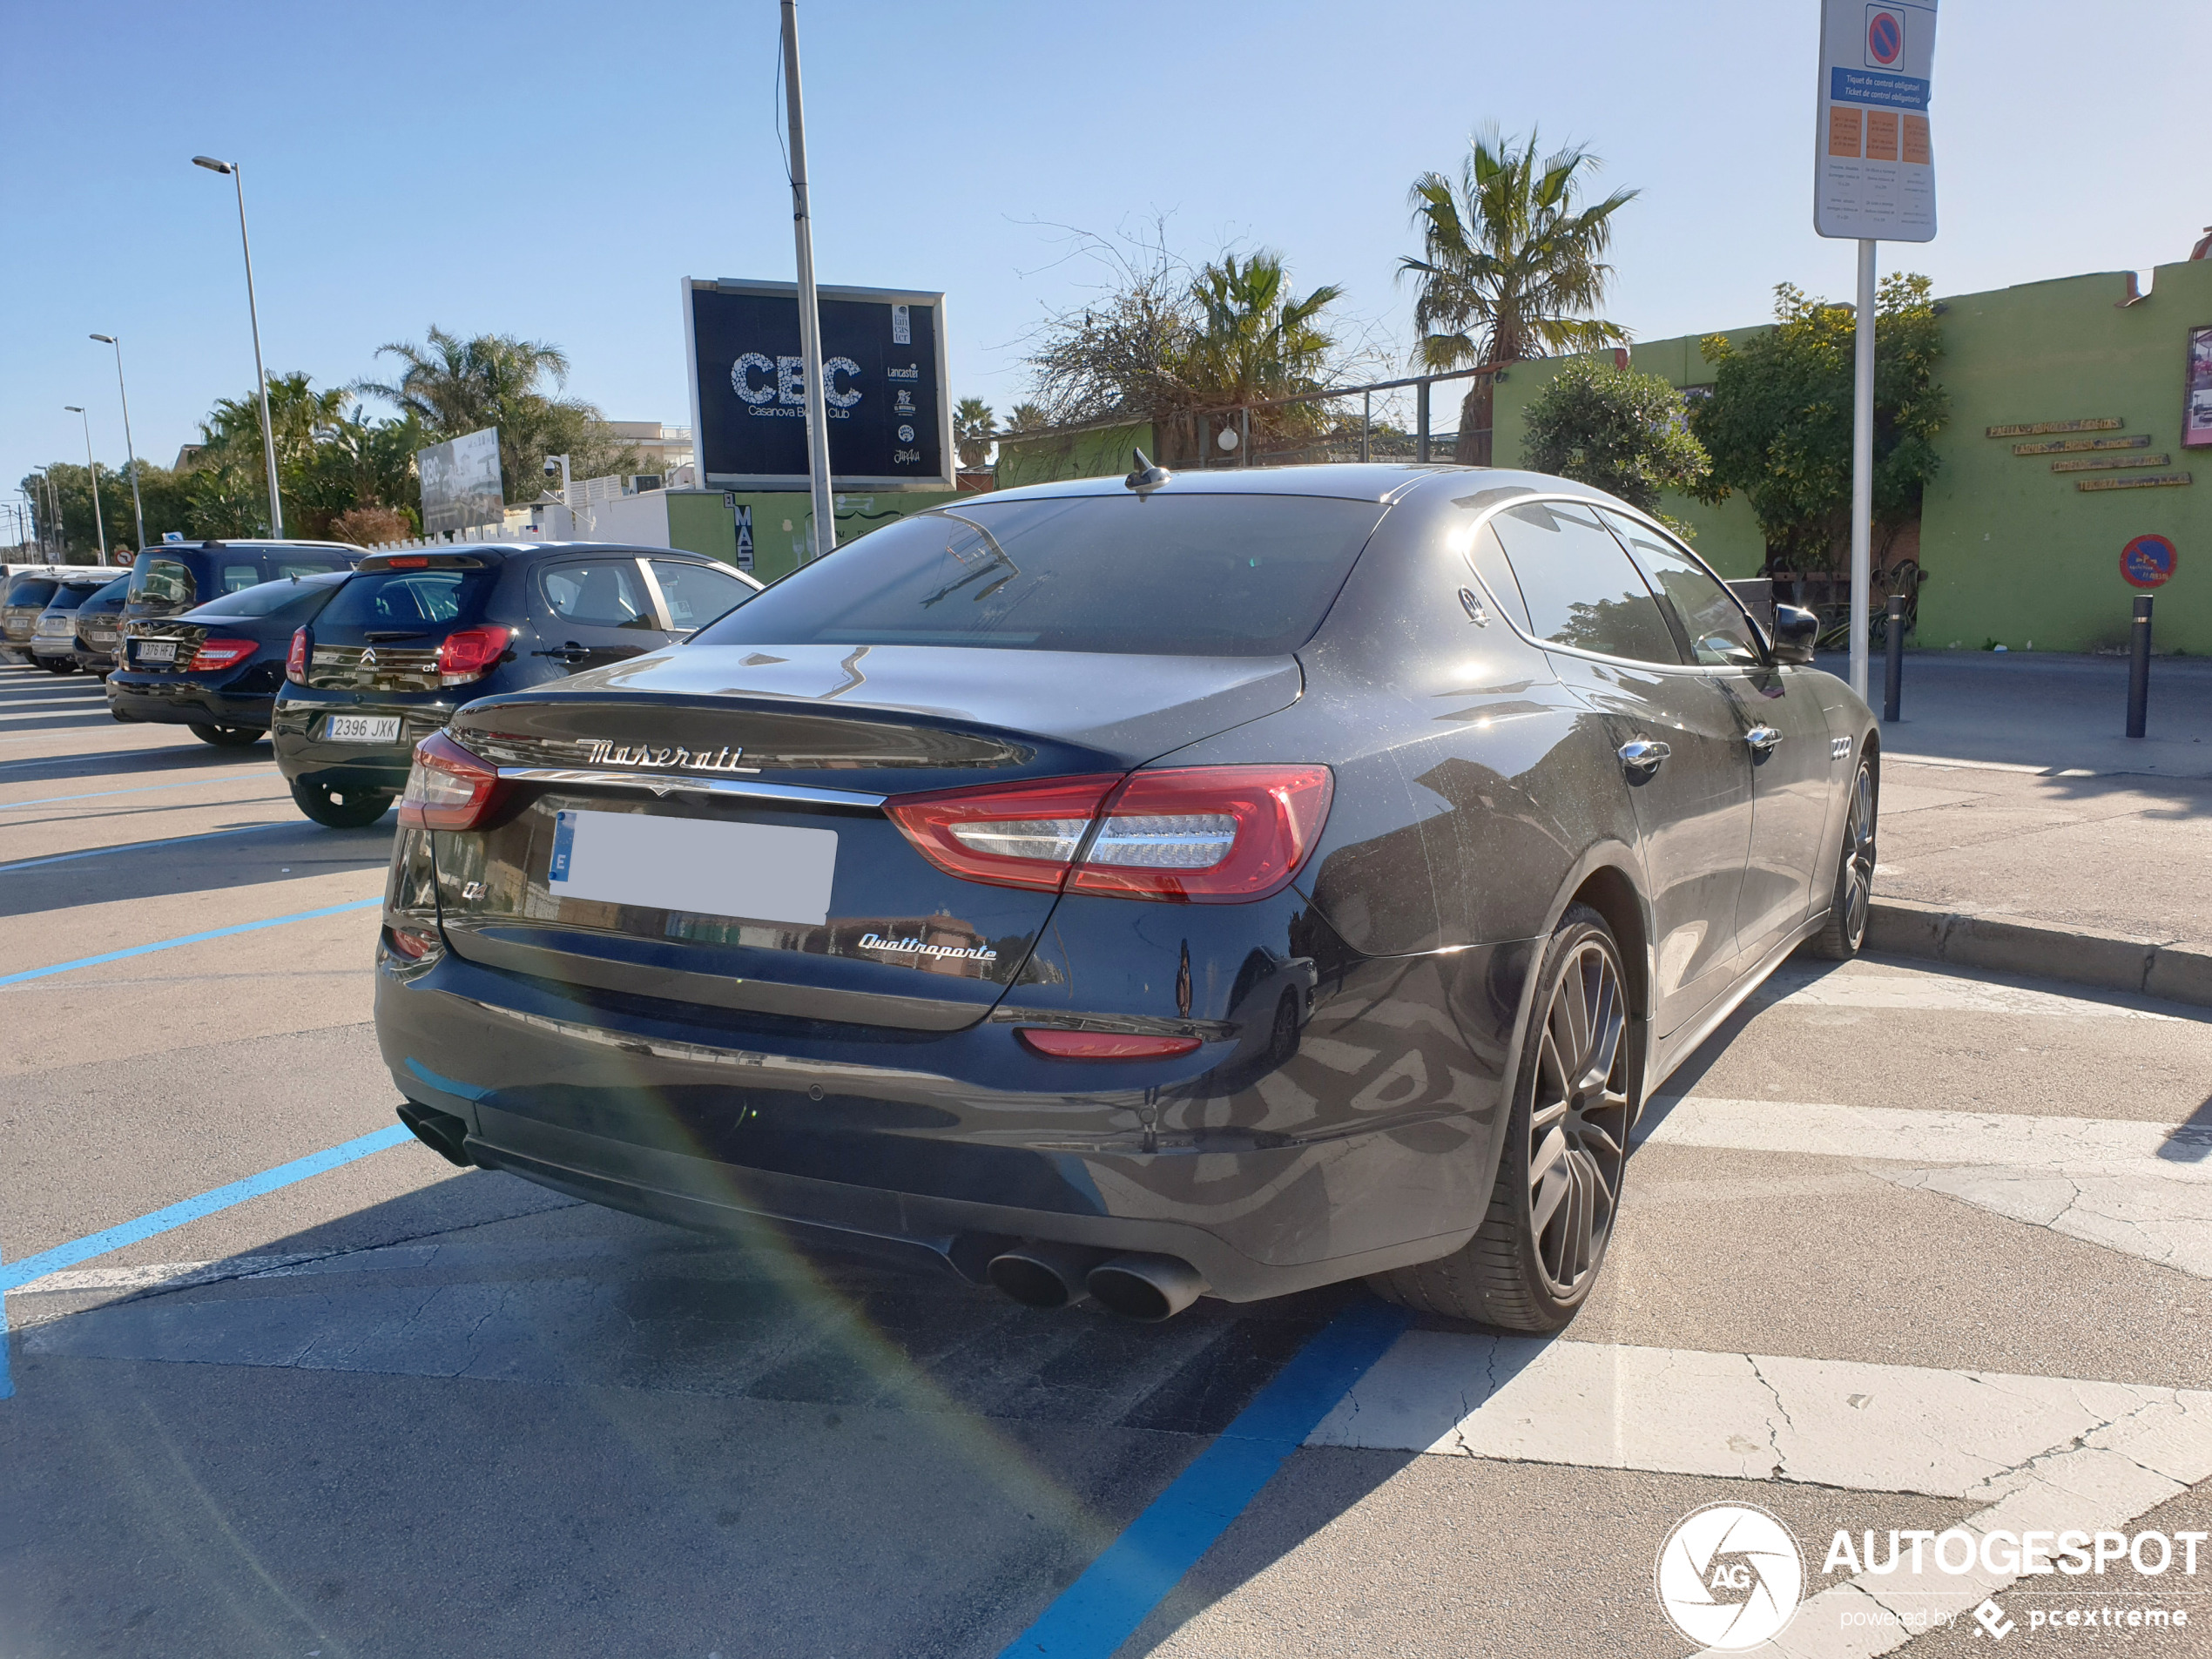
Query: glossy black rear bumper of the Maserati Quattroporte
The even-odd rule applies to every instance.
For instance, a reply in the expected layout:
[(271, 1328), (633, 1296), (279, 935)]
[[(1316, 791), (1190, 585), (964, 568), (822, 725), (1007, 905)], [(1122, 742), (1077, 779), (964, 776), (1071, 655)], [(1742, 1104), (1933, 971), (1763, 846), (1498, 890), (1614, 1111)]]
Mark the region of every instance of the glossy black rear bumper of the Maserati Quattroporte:
[[(1256, 1301), (1431, 1261), (1471, 1237), (1498, 1159), (1509, 1044), (1464, 1044), (1447, 1006), (1409, 1037), (1405, 991), (1425, 973), (1438, 1002), (1455, 975), (1504, 971), (1517, 984), (1526, 953), (1398, 960), (1383, 969), (1396, 989), (1385, 998), (1374, 964), (1354, 964), (1316, 1013), (1329, 1040), (1312, 1051), (1325, 1064), (1217, 1062), (1168, 1086), (1148, 1086), (1146, 1066), (1068, 1066), (1055, 1091), (1009, 1064), (1004, 1015), (953, 1033), (743, 1018), (708, 1029), (679, 1024), (679, 1004), (657, 1018), (650, 998), (453, 953), (427, 967), (378, 956), (376, 1031), (394, 1082), (460, 1119), (487, 1168), (679, 1225), (743, 1234), (765, 1219), (969, 1276), (1013, 1239), (1168, 1254), (1214, 1296)], [(1383, 1004), (1389, 1024), (1365, 1029), (1354, 1009)], [(1376, 1055), (1358, 1040), (1378, 1035), (1396, 1060), (1347, 1075), (1345, 1055)], [(1422, 1062), (1422, 1048), (1436, 1053)], [(1411, 1102), (1413, 1073), (1433, 1075), (1433, 1097)], [(1077, 1088), (1102, 1075), (1119, 1086)], [(1338, 1108), (1363, 1084), (1374, 1099), (1347, 1117)], [(1321, 1088), (1345, 1099), (1310, 1110)]]

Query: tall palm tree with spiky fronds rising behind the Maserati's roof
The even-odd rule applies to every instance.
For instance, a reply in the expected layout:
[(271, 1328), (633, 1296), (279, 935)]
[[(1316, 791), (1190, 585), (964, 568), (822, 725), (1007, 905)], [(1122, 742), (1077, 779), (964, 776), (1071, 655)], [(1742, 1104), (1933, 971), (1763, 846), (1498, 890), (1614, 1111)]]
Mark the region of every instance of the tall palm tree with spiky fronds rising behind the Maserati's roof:
[[(1486, 126), (1469, 139), (1458, 186), (1442, 173), (1413, 181), (1413, 223), (1422, 257), (1400, 259), (1416, 276), (1413, 327), (1422, 369), (1520, 363), (1546, 352), (1621, 345), (1628, 332), (1593, 316), (1613, 265), (1613, 215), (1637, 199), (1615, 190), (1579, 206), (1584, 177), (1599, 159), (1579, 144), (1537, 159), (1537, 135), (1504, 139)], [(1460, 405), (1455, 460), (1491, 460), (1491, 380), (1475, 378)]]

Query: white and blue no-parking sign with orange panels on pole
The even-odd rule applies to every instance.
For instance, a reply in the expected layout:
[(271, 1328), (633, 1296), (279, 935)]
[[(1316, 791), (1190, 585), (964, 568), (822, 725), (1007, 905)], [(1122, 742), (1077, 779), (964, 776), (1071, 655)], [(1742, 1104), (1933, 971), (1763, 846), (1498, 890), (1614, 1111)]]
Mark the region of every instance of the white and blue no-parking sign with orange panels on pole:
[(1812, 223), (1823, 237), (1936, 239), (1933, 66), (1936, 0), (1820, 0)]

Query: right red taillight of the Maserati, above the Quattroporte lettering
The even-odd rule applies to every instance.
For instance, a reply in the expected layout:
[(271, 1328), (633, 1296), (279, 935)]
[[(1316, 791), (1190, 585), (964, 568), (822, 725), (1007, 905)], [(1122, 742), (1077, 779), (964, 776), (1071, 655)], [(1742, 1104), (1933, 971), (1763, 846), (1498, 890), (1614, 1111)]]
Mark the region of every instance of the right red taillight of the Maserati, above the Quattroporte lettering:
[(1325, 765), (1181, 765), (909, 794), (885, 812), (962, 880), (1225, 905), (1290, 885), (1332, 792)]

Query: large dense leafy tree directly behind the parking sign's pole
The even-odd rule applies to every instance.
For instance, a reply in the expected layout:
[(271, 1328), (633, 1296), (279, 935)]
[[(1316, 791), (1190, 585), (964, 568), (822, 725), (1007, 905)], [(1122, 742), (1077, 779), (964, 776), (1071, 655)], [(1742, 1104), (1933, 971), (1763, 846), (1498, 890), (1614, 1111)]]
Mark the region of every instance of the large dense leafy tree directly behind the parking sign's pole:
[[(1851, 305), (1774, 290), (1774, 327), (1736, 347), (1703, 341), (1717, 363), (1712, 396), (1690, 411), (1690, 431), (1712, 456), (1699, 489), (1708, 502), (1743, 491), (1767, 540), (1767, 568), (1825, 571), (1851, 522)], [(1936, 380), (1942, 323), (1929, 279), (1896, 272), (1874, 307), (1874, 522), (1887, 546), (1920, 515), (1936, 476), (1936, 434), (1949, 394)]]

